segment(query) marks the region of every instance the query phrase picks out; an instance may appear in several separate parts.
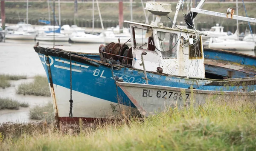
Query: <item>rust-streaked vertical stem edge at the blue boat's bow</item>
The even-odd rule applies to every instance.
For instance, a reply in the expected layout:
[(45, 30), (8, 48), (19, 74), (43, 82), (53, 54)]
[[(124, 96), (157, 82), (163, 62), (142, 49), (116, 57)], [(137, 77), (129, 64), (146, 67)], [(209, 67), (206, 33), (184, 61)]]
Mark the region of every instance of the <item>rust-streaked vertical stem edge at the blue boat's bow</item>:
[[(46, 56), (46, 62), (49, 65), (49, 56)], [(50, 90), (51, 90), (51, 94), (52, 94), (52, 104), (54, 107), (54, 114), (55, 114), (55, 120), (56, 120), (56, 126), (59, 129), (60, 128), (60, 123), (59, 123), (59, 117), (58, 117), (58, 108), (57, 108), (57, 103), (56, 103), (56, 98), (55, 98), (55, 92), (54, 92), (54, 88), (53, 88), (53, 82), (52, 82), (52, 73), (51, 73), (51, 67), (47, 66), (47, 71), (48, 71), (48, 75), (49, 75), (49, 82), (50, 82)]]

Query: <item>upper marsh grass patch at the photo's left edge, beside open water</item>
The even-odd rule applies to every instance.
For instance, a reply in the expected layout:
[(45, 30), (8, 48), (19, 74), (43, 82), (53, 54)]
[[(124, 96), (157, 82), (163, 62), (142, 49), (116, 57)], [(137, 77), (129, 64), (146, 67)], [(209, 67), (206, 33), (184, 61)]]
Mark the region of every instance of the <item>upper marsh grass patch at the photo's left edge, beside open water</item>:
[(11, 86), (9, 80), (20, 80), (26, 79), (27, 77), (24, 75), (9, 75), (9, 74), (0, 74), (0, 88), (7, 88)]

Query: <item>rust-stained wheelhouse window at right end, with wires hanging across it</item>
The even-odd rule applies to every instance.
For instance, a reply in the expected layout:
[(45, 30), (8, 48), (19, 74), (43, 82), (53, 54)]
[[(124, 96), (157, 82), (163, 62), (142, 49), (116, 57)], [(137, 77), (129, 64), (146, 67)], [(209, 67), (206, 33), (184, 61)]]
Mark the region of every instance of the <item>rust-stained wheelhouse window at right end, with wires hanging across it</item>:
[[(190, 35), (189, 37), (193, 37), (193, 39), (196, 40), (195, 36)], [(189, 59), (202, 58), (202, 54), (202, 37), (200, 36), (194, 45), (189, 46)]]

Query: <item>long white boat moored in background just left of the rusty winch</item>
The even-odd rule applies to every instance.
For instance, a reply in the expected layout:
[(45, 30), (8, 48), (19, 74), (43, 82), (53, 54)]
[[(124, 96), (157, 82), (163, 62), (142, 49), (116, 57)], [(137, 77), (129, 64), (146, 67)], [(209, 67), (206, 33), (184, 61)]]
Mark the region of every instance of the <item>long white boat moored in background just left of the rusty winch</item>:
[(72, 33), (70, 40), (75, 43), (104, 43), (104, 34), (85, 34), (84, 32)]

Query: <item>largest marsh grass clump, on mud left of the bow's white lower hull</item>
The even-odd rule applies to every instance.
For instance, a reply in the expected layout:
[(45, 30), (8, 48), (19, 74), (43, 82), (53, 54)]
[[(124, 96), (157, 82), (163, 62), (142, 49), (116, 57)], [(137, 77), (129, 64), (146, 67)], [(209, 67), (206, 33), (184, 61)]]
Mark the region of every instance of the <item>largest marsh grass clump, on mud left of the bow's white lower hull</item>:
[(17, 94), (51, 96), (47, 77), (35, 76), (32, 83), (22, 83), (16, 90)]

